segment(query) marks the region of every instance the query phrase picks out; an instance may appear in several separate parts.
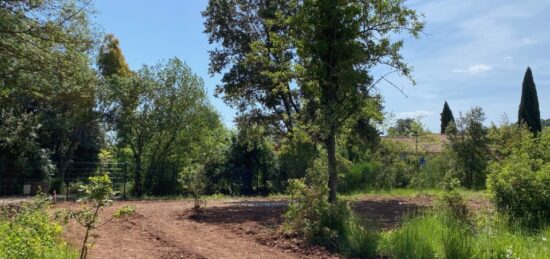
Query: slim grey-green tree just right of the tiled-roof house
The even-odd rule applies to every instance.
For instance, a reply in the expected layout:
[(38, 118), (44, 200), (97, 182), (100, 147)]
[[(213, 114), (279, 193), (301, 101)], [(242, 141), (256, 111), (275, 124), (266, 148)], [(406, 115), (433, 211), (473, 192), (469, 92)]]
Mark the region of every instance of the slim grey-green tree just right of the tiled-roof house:
[(489, 160), (488, 130), (483, 126), (485, 113), (475, 107), (460, 115), (455, 127), (447, 131), (451, 171), (447, 177), (457, 178), (468, 188), (483, 188)]

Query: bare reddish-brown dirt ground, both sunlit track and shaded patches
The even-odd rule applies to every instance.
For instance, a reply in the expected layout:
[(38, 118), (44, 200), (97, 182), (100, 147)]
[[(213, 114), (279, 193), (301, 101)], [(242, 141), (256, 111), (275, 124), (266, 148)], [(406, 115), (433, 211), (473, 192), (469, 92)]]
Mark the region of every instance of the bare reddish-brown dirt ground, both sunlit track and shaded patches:
[[(429, 207), (433, 198), (369, 197), (351, 203), (368, 223), (395, 227), (403, 215)], [(471, 206), (484, 206), (470, 202)], [(309, 246), (280, 231), (285, 201), (223, 199), (209, 201), (204, 212), (191, 212), (190, 201), (116, 202), (102, 220), (124, 205), (136, 214), (117, 219), (95, 231), (91, 258), (340, 258), (321, 247)], [(77, 208), (75, 203), (58, 205)], [(66, 226), (64, 238), (79, 247), (82, 227)]]

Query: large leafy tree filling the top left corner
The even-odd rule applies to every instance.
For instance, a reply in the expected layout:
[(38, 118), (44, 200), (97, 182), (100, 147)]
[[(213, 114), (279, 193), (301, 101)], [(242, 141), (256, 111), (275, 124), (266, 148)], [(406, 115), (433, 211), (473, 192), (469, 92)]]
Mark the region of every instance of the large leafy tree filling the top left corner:
[(61, 179), (97, 129), (91, 11), (90, 1), (0, 1), (0, 109), (34, 114)]

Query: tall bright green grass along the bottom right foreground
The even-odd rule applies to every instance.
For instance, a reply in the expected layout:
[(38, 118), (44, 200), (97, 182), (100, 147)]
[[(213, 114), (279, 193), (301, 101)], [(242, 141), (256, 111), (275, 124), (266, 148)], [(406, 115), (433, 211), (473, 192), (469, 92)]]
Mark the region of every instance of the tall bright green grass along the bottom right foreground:
[(548, 258), (550, 228), (526, 232), (498, 216), (483, 216), (472, 225), (444, 213), (409, 218), (382, 235), (379, 254), (392, 258)]

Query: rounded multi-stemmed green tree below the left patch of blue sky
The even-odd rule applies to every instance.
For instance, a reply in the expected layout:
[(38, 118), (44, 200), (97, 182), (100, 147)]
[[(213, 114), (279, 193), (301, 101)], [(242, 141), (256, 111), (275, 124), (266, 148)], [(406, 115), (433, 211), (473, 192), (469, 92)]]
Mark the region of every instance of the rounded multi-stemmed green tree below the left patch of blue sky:
[(132, 162), (137, 195), (180, 194), (179, 172), (212, 163), (220, 153), (225, 129), (204, 82), (183, 61), (172, 58), (103, 81), (102, 105), (109, 107), (108, 122), (117, 132), (114, 153)]

